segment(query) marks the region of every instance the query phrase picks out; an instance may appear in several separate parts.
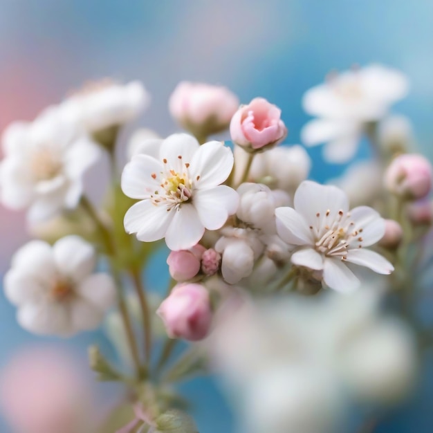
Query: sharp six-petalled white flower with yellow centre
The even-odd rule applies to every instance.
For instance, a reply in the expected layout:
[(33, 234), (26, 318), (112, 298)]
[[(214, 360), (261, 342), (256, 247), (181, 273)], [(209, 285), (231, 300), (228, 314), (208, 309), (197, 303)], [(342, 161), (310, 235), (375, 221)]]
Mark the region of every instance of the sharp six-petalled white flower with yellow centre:
[(158, 158), (139, 154), (122, 173), (122, 190), (140, 201), (125, 215), (125, 230), (145, 242), (165, 237), (171, 250), (185, 250), (208, 230), (223, 226), (239, 197), (220, 185), (233, 167), (232, 151), (221, 142), (200, 146), (185, 133), (169, 136)]

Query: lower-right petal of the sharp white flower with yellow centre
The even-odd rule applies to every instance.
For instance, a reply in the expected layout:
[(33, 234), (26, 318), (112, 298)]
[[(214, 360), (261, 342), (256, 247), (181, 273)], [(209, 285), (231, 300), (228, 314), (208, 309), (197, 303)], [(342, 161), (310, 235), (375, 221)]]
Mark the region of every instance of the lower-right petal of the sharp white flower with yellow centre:
[(239, 195), (226, 185), (194, 192), (194, 206), (201, 223), (208, 230), (221, 228), (228, 215), (236, 212), (238, 203)]

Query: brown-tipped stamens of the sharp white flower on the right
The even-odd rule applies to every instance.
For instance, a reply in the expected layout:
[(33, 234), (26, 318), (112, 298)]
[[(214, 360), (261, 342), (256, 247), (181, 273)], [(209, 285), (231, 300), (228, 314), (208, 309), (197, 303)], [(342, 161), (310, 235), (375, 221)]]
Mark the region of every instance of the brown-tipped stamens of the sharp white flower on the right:
[(351, 220), (350, 212), (338, 211), (338, 215), (331, 216), (331, 211), (326, 210), (322, 215), (317, 212), (316, 227), (310, 225), (310, 230), (315, 234), (315, 250), (326, 256), (340, 256), (346, 259), (349, 248), (362, 248), (362, 228), (356, 228)]

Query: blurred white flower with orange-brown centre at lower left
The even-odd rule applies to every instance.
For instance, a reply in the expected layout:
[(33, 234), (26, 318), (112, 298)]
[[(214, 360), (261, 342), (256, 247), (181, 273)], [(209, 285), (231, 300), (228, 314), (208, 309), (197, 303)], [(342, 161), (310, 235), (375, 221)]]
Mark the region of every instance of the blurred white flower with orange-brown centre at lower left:
[(30, 332), (68, 336), (95, 329), (116, 299), (113, 279), (92, 274), (95, 250), (77, 236), (51, 247), (30, 241), (12, 257), (4, 280), (17, 320)]

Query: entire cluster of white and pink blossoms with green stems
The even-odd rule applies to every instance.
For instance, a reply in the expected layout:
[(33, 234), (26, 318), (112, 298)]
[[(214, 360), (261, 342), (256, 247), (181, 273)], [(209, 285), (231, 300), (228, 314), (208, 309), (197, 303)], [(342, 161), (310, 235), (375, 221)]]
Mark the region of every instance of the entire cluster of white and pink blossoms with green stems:
[[(99, 349), (90, 352), (91, 367), (102, 380), (120, 380), (133, 389), (136, 416), (119, 432), (133, 432), (138, 425), (149, 432), (174, 431), (169, 430), (172, 422), (188, 426), (183, 432), (195, 431), (190, 418), (172, 412), (176, 395), (163, 386), (164, 380), (171, 383), (188, 374), (189, 358), (181, 358), (164, 380), (160, 376), (178, 339), (205, 340), (192, 345), (192, 366), (198, 369), (210, 353), (223, 374), (245, 391), (239, 394), (244, 394), (246, 411), (257, 414), (247, 427), (251, 432), (286, 432), (290, 425), (293, 431), (317, 433), (320, 425), (332, 424), (330, 418), (323, 421), (324, 412), (340, 409), (336, 389), (342, 384), (353, 387), (354, 395), (375, 402), (383, 398), (380, 387), (365, 380), (371, 364), (391, 365), (392, 356), (387, 352), (369, 364), (353, 355), (363, 350), (359, 347), (376, 350), (382, 341), (370, 338), (376, 331), (391, 335), (396, 343), (390, 343), (389, 353), (407, 360), (381, 377), (383, 387), (395, 385), (397, 376), (406, 385), (414, 374), (412, 336), (407, 337), (412, 334), (402, 336), (377, 316), (379, 300), (389, 293), (405, 304), (402, 293), (411, 291), (406, 287), (411, 248), (425, 239), (433, 221), (428, 198), (432, 166), (410, 148), (408, 120), (388, 114), (407, 89), (402, 73), (371, 65), (331, 75), (306, 92), (304, 109), (317, 116), (302, 130), (306, 146), (325, 143), (327, 162), (346, 163), (366, 136), (377, 156), (349, 167), (326, 185), (309, 179), (312, 162), (306, 149), (287, 144), (288, 127), (279, 107), (265, 98), (239, 106), (237, 96), (222, 86), (179, 84), (169, 99), (169, 111), (186, 131), (161, 138), (155, 131), (139, 129), (129, 140), (121, 173), (116, 160), (119, 132), (150, 99), (139, 82), (87, 86), (33, 122), (10, 125), (3, 133), (0, 199), (7, 208), (27, 211), (30, 232), (38, 238), (15, 253), (4, 279), (19, 324), (33, 333), (65, 337), (104, 323), (127, 371), (134, 370), (131, 379), (130, 371), (118, 371)], [(230, 142), (212, 139), (224, 131), (230, 133)], [(95, 205), (84, 175), (96, 168), (104, 153), (111, 160), (112, 179), (106, 196)], [(172, 277), (162, 300), (144, 286), (148, 260), (160, 241), (167, 246)], [(95, 271), (97, 265), (103, 271)], [(381, 289), (375, 302), (366, 302), (366, 307), (358, 301), (340, 304), (340, 297), (365, 299), (365, 287), (376, 287), (377, 281)], [(282, 302), (278, 314), (287, 305), (287, 315), (293, 315), (284, 324), (287, 329), (292, 324), (292, 332), (299, 331), (302, 323), (312, 327), (286, 335), (282, 321), (275, 330), (271, 326), (268, 335), (255, 327), (252, 317), (261, 313), (252, 300), (276, 295), (319, 300), (320, 311), (326, 311), (320, 313), (322, 323), (317, 324), (310, 307)], [(332, 301), (323, 301), (330, 296)], [(354, 313), (368, 311), (356, 322), (358, 316), (346, 317), (340, 305)], [(228, 320), (227, 311), (245, 320)], [(402, 311), (407, 313), (407, 306)], [(334, 313), (342, 317), (340, 322), (333, 320)], [(321, 326), (326, 329), (322, 342)], [(351, 339), (347, 329), (353, 329), (358, 340), (336, 354)], [(367, 335), (364, 340), (360, 330)], [(286, 355), (276, 353), (271, 342), (280, 331), (275, 347), (287, 338), (287, 348), (279, 349), (293, 355), (311, 340), (298, 358), (315, 362), (300, 366), (293, 357), (286, 362)], [(154, 366), (153, 342), (160, 339), (165, 342)], [(263, 349), (259, 356), (257, 347)], [(244, 369), (252, 358), (255, 361)], [(281, 375), (269, 378), (269, 370)], [(323, 393), (317, 394), (308, 382), (300, 403), (295, 403), (304, 377), (306, 382), (317, 379)], [(366, 379), (353, 383), (353, 378)], [(287, 385), (288, 405), (282, 389), (270, 389), (269, 383)], [(403, 385), (396, 387), (398, 392), (409, 388)], [(260, 394), (269, 396), (266, 416), (257, 409)], [(300, 409), (310, 407), (311, 401), (323, 404), (317, 418)]]

